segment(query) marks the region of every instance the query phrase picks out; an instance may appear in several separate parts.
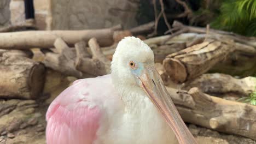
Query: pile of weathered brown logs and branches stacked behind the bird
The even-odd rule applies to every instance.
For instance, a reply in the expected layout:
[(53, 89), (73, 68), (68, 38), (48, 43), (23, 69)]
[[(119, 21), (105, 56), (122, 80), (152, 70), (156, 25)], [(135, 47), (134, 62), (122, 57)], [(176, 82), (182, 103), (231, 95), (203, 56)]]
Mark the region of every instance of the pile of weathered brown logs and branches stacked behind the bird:
[[(130, 31), (120, 31), (117, 26), (84, 31), (0, 33), (0, 49), (7, 49), (0, 50), (0, 97), (37, 99), (43, 89), (45, 67), (78, 79), (109, 74), (118, 41), (152, 32), (152, 27), (154, 22)], [(256, 140), (255, 106), (235, 101), (255, 91), (255, 77), (247, 77), (250, 73), (243, 79), (205, 74), (220, 68), (220, 63), (231, 62), (234, 53), (252, 61), (250, 69), (242, 69), (251, 71), (255, 65), (255, 39), (179, 22), (174, 22), (173, 28), (176, 32), (170, 35), (139, 37), (152, 48), (159, 73), (184, 121)], [(43, 52), (43, 64), (31, 59), (33, 47)]]

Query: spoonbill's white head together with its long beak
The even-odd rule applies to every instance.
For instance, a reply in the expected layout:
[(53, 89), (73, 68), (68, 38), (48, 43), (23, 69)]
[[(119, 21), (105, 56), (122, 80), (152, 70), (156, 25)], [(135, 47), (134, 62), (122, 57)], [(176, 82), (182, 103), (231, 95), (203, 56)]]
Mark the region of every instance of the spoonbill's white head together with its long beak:
[(112, 59), (111, 75), (121, 97), (132, 91), (146, 94), (180, 143), (196, 143), (154, 67), (154, 53), (147, 44), (135, 37), (121, 40)]

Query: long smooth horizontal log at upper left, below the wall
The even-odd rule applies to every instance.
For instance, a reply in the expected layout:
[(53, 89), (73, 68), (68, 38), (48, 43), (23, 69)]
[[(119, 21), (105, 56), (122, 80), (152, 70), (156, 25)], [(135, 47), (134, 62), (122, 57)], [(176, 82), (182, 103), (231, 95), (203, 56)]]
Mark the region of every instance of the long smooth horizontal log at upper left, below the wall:
[[(101, 46), (113, 44), (113, 32), (121, 27), (83, 30), (83, 31), (26, 31), (0, 33), (0, 49), (31, 49), (39, 47), (49, 49), (57, 38), (62, 38), (67, 45), (73, 46), (79, 41), (89, 41), (95, 37)], [(113, 30), (114, 29), (114, 30)], [(21, 37), (22, 35), (22, 37)]]

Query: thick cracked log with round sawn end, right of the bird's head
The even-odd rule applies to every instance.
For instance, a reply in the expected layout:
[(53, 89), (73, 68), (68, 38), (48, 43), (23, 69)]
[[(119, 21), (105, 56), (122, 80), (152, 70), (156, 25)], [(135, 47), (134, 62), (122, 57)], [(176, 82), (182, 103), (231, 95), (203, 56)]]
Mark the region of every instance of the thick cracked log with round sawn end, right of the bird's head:
[(205, 41), (168, 55), (163, 64), (167, 75), (174, 82), (182, 83), (205, 73), (232, 51), (230, 44)]

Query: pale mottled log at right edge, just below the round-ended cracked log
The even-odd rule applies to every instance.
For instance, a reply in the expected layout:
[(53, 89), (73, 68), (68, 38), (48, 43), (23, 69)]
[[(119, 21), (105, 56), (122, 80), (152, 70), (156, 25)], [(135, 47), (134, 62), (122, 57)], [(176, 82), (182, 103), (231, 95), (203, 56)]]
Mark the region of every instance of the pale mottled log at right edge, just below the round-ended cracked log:
[(195, 80), (185, 83), (183, 89), (189, 90), (193, 87), (197, 87), (200, 91), (211, 95), (235, 93), (239, 95), (239, 98), (246, 97), (255, 91), (256, 78), (236, 79), (225, 74), (203, 74)]

